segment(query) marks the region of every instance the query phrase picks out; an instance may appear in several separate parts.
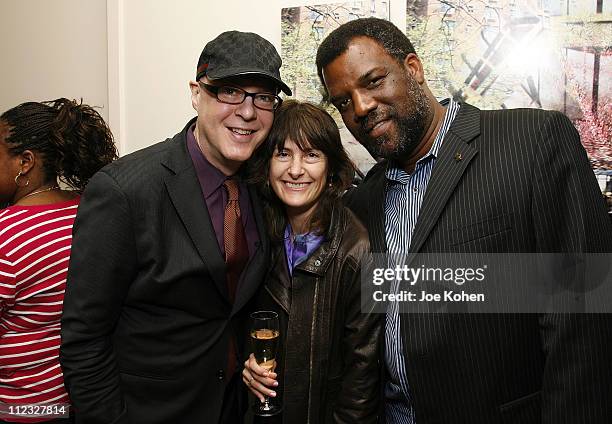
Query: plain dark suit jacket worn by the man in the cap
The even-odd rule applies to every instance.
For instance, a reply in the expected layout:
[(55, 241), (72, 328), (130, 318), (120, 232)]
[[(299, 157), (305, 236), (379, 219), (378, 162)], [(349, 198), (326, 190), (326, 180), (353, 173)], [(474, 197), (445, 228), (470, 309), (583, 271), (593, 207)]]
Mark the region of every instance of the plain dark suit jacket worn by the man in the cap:
[(85, 190), (60, 356), (79, 423), (219, 420), (230, 336), (246, 336), (245, 305), (263, 278), (269, 246), (251, 191), (260, 243), (232, 305), (187, 151), (193, 122), (105, 167)]

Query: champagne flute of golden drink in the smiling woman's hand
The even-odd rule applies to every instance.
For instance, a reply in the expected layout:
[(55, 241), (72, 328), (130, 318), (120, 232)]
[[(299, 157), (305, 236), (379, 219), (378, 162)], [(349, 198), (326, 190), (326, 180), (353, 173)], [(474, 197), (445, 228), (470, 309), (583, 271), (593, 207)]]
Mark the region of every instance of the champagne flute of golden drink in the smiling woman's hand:
[[(257, 311), (251, 314), (251, 341), (253, 342), (255, 360), (259, 366), (272, 370), (278, 346), (278, 314), (272, 311)], [(253, 405), (253, 414), (259, 417), (270, 417), (278, 414), (282, 407), (265, 396), (263, 403)]]

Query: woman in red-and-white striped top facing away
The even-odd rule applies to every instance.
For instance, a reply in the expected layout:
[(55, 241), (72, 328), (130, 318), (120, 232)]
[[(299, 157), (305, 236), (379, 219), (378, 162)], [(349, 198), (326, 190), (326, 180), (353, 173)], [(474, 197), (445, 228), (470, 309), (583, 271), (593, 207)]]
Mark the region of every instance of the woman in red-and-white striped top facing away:
[[(79, 192), (117, 157), (93, 108), (68, 99), (0, 116), (0, 422), (68, 422), (60, 318)], [(61, 181), (73, 190), (64, 190)]]

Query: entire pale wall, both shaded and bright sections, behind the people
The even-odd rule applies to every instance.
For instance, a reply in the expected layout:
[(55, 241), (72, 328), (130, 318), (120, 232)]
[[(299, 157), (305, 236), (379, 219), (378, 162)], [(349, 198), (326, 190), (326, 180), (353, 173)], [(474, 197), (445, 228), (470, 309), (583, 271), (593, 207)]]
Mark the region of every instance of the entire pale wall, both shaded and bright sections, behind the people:
[[(133, 152), (195, 115), (188, 81), (207, 41), (237, 29), (280, 49), (281, 8), (296, 2), (0, 0), (0, 112), (26, 100), (82, 97), (103, 107), (120, 154)], [(401, 4), (391, 2), (400, 28)]]

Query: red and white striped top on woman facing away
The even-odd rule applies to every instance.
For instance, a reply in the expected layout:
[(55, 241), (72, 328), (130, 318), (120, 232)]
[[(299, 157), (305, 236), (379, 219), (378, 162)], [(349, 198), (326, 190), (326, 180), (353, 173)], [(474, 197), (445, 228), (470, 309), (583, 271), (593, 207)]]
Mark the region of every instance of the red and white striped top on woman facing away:
[(69, 402), (60, 319), (78, 204), (77, 197), (0, 211), (0, 402)]

